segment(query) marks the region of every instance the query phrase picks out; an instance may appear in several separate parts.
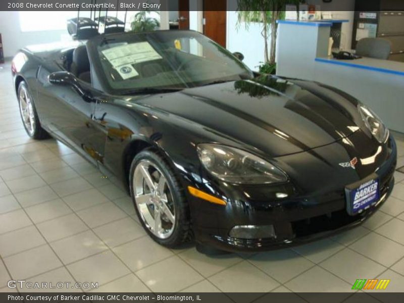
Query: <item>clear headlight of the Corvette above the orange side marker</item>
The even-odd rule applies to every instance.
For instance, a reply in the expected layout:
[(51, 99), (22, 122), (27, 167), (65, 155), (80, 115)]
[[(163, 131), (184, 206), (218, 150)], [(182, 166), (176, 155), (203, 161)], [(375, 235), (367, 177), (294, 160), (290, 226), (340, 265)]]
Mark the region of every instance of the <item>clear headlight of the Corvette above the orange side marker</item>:
[(214, 176), (229, 183), (269, 184), (287, 181), (287, 176), (271, 163), (230, 146), (199, 144), (200, 162)]

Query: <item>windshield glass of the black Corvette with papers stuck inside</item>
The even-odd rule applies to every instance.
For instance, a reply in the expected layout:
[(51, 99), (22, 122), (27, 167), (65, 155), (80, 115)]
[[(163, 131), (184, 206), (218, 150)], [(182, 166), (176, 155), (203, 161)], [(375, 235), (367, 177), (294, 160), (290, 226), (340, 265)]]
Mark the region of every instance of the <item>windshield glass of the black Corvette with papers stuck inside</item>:
[(112, 34), (97, 37), (89, 45), (99, 81), (118, 94), (253, 77), (225, 48), (192, 31)]

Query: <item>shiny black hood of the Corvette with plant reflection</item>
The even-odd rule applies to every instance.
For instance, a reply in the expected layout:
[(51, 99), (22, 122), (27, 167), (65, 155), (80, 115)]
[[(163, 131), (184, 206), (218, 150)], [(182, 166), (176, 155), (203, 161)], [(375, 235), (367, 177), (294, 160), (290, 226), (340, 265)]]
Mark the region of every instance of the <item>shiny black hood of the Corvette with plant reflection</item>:
[(272, 156), (341, 140), (359, 129), (354, 98), (321, 84), (260, 76), (141, 101)]

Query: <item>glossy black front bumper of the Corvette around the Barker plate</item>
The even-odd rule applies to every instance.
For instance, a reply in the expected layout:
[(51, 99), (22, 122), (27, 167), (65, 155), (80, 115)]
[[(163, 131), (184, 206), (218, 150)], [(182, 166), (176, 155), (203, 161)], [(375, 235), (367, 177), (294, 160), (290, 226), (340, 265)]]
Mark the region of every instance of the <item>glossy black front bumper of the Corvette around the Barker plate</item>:
[[(390, 195), (394, 186), (396, 146), (392, 138), (388, 142), (388, 155), (376, 170), (380, 180), (380, 199), (373, 207), (355, 216), (346, 211), (344, 187), (357, 180), (346, 178), (322, 192), (311, 191), (290, 199), (268, 200), (275, 191), (293, 192), (296, 188), (260, 188), (246, 190), (232, 187), (226, 207), (189, 197), (192, 200), (192, 218), (195, 239), (204, 246), (226, 251), (262, 251), (298, 245), (331, 236), (356, 227), (371, 217)], [(348, 171), (355, 172), (354, 170)], [(346, 183), (343, 183), (346, 182)], [(327, 182), (325, 181), (324, 184)], [(344, 184), (344, 185), (341, 185)], [(305, 193), (303, 190), (300, 192)], [(236, 225), (273, 225), (275, 238), (241, 239), (230, 237)]]

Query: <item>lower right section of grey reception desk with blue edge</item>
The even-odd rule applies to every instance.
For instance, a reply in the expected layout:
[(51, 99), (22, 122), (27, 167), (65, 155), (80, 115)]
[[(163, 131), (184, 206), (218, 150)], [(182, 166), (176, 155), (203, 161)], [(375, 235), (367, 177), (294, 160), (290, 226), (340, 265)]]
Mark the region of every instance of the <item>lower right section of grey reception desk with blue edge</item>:
[(313, 80), (369, 105), (391, 129), (404, 132), (404, 62), (316, 58)]

